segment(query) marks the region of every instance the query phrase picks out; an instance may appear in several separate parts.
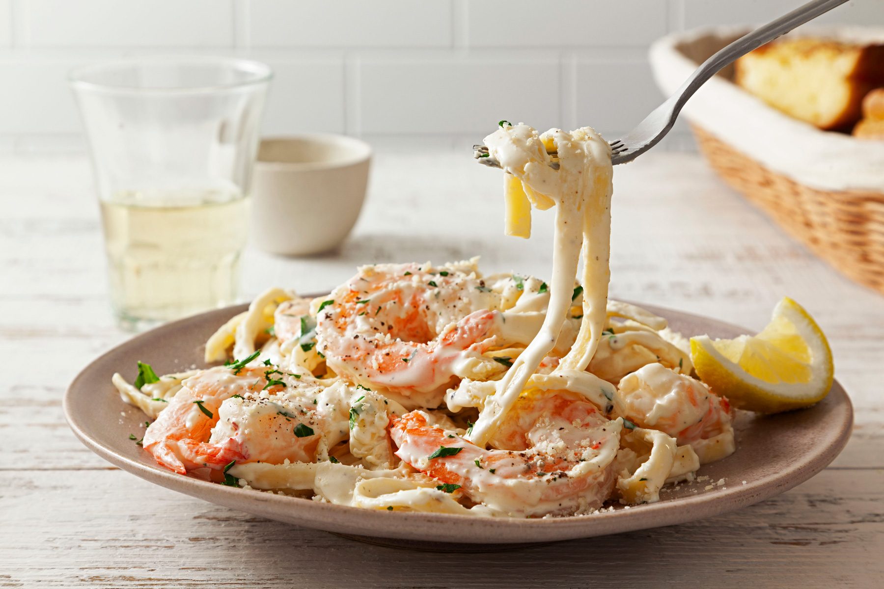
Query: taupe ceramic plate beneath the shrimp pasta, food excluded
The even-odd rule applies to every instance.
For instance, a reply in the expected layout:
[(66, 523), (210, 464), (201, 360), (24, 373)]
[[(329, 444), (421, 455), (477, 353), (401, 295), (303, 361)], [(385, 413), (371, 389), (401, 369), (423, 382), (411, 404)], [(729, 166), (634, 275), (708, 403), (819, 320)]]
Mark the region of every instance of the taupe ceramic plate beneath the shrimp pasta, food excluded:
[[(746, 333), (744, 329), (697, 315), (644, 307), (666, 317), (674, 329), (685, 335), (733, 337)], [(380, 543), (420, 547), (420, 542), (429, 541), (462, 545), (569, 540), (679, 524), (737, 510), (795, 487), (825, 468), (844, 447), (853, 422), (850, 400), (838, 382), (821, 403), (810, 409), (770, 417), (740, 412), (735, 419), (736, 452), (700, 469), (699, 475), (709, 480), (664, 491), (660, 502), (629, 510), (618, 506), (613, 511), (583, 517), (492, 519), (362, 510), (224, 487), (166, 471), (129, 440), (129, 434), (142, 431), (145, 417), (120, 400), (110, 376), (119, 372), (133, 378), (136, 360), (149, 362), (157, 374), (203, 366), (206, 339), (245, 308), (232, 306), (169, 323), (133, 337), (96, 359), (72, 381), (65, 394), (65, 416), (74, 434), (89, 449), (121, 469), (186, 495), (291, 524), (363, 539), (370, 537)], [(722, 479), (724, 483), (720, 486), (705, 489)], [(149, 510), (149, 501), (142, 507)]]

